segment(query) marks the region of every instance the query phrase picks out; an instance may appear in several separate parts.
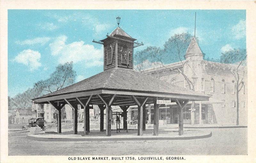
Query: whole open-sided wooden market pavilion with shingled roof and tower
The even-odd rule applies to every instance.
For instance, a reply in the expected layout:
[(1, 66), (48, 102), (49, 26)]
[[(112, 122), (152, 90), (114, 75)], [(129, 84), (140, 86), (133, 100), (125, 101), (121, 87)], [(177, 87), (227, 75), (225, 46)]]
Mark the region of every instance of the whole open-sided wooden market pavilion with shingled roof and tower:
[[(117, 18), (119, 25), (120, 18)], [(158, 135), (159, 107), (165, 102), (179, 106), (179, 135), (183, 134), (183, 107), (189, 101), (208, 101), (210, 96), (196, 93), (133, 70), (133, 48), (143, 45), (119, 26), (106, 39), (93, 41), (104, 46), (104, 71), (66, 88), (33, 99), (33, 103), (49, 103), (58, 110), (58, 133), (61, 133), (61, 108), (66, 104), (74, 111), (74, 134), (77, 134), (78, 104), (84, 108), (84, 135), (90, 132), (89, 107), (100, 108), (100, 131), (111, 135), (111, 106), (123, 110), (124, 130), (127, 129), (127, 109), (138, 106), (138, 135), (146, 129), (146, 104), (154, 104), (154, 134)], [(164, 101), (161, 101), (164, 100)]]

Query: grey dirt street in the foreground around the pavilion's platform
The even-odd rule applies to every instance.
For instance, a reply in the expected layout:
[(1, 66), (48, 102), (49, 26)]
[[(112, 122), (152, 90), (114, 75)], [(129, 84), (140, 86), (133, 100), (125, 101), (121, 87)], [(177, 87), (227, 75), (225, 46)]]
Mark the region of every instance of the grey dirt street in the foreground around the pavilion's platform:
[[(200, 129), (212, 137), (192, 140), (46, 142), (9, 131), (9, 155), (246, 155), (247, 128)], [(104, 149), (104, 150), (102, 150)]]

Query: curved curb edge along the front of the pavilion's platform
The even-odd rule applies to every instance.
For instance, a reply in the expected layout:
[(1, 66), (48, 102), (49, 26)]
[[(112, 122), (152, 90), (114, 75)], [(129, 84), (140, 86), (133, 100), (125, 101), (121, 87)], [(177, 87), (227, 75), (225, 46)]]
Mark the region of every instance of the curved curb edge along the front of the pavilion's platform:
[(31, 135), (27, 135), (27, 138), (30, 140), (37, 140), (37, 141), (128, 141), (128, 140), (190, 140), (190, 139), (201, 139), (201, 138), (210, 138), (212, 136), (212, 132), (206, 135), (200, 136), (188, 136), (188, 137), (173, 137), (173, 138), (166, 138), (166, 137), (153, 137), (153, 138), (38, 138), (33, 137)]

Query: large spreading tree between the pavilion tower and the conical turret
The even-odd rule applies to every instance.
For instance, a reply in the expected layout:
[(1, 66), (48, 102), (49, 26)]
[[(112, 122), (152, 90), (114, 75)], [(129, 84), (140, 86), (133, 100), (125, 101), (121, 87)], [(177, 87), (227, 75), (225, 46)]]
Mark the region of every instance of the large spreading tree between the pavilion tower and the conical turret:
[[(164, 49), (157, 47), (148, 47), (145, 50), (137, 52), (137, 56), (135, 60), (139, 60), (139, 71), (141, 71), (141, 67), (147, 67), (143, 64), (147, 63), (147, 61), (151, 62), (150, 65), (154, 65), (157, 69), (154, 72), (155, 74), (159, 74), (159, 72), (170, 72), (175, 71), (180, 73), (185, 80), (188, 82), (189, 89), (195, 90), (194, 83), (188, 78), (188, 76), (184, 73), (184, 67), (187, 64), (185, 60), (185, 53), (188, 49), (188, 46), (191, 42), (193, 36), (189, 33), (181, 33), (174, 34), (168, 41), (164, 44)], [(198, 39), (195, 38), (198, 43)], [(139, 59), (138, 59), (139, 58)], [(185, 60), (185, 61), (184, 61)], [(180, 61), (181, 67), (170, 68), (166, 67), (166, 64)], [(158, 66), (156, 66), (158, 65)], [(189, 64), (187, 64), (189, 66)], [(138, 65), (137, 65), (138, 66)], [(142, 71), (143, 72), (143, 71)], [(159, 76), (156, 76), (159, 78)], [(194, 110), (195, 103), (192, 102), (191, 109)]]

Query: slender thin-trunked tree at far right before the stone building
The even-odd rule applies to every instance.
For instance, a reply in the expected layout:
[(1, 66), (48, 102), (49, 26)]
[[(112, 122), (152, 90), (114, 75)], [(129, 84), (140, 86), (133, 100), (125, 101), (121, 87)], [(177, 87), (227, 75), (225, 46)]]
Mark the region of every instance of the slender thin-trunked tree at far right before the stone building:
[(236, 125), (239, 125), (239, 92), (244, 86), (244, 74), (246, 71), (246, 49), (230, 49), (224, 53), (221, 53), (220, 62), (226, 64), (223, 68), (234, 76), (236, 84)]

